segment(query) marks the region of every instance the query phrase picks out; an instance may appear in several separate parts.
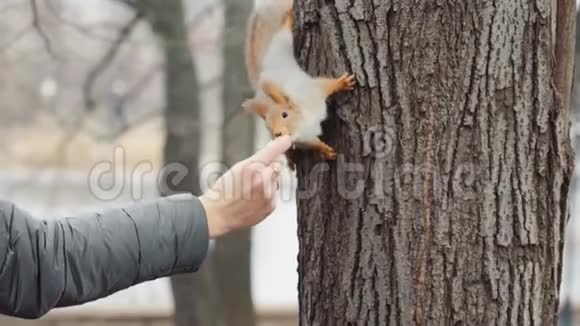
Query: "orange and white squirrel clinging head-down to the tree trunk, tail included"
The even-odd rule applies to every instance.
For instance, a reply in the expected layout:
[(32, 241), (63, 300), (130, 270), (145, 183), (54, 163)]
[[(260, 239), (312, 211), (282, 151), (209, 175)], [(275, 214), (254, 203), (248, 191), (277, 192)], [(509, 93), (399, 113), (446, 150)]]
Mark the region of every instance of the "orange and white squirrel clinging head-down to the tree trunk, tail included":
[[(356, 80), (346, 73), (339, 78), (308, 75), (294, 57), (292, 24), (292, 0), (264, 0), (254, 8), (247, 31), (246, 67), (256, 94), (242, 107), (260, 116), (272, 137), (290, 135), (296, 148), (335, 160), (334, 148), (318, 137), (320, 123), (327, 117), (326, 99), (354, 89)], [(291, 153), (287, 158), (294, 170)]]

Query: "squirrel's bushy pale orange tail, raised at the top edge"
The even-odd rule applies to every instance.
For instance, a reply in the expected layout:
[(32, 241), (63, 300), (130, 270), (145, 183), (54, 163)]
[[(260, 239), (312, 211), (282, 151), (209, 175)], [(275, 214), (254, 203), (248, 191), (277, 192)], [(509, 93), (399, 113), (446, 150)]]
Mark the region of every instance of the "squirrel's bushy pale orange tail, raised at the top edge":
[(258, 0), (248, 20), (246, 33), (246, 68), (252, 87), (256, 89), (261, 62), (272, 37), (278, 32), (292, 8), (293, 0)]

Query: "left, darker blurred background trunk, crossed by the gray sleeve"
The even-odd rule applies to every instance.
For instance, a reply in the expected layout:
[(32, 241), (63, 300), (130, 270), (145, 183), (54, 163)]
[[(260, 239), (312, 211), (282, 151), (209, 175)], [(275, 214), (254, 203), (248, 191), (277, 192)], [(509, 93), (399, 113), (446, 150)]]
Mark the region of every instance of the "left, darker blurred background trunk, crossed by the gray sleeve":
[[(166, 140), (161, 180), (164, 195), (200, 194), (199, 84), (189, 48), (182, 0), (140, 0), (140, 9), (151, 23), (165, 57)], [(202, 266), (202, 269), (207, 267)], [(216, 325), (217, 294), (211, 273), (171, 277), (177, 326)]]

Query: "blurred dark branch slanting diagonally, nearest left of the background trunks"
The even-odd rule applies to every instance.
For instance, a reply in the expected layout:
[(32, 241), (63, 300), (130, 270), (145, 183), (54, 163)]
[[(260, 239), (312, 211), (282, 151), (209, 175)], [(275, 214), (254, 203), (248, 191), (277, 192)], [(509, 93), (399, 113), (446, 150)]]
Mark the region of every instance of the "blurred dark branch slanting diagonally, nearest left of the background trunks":
[(117, 39), (111, 44), (111, 47), (101, 60), (91, 69), (87, 75), (85, 84), (83, 85), (83, 98), (85, 102), (85, 108), (87, 111), (93, 111), (95, 109), (95, 99), (93, 98), (93, 88), (95, 83), (101, 76), (101, 74), (109, 67), (113, 60), (117, 57), (117, 54), (121, 50), (123, 43), (131, 36), (131, 32), (137, 26), (141, 20), (141, 14), (137, 12), (135, 16), (129, 20), (129, 22), (119, 31)]

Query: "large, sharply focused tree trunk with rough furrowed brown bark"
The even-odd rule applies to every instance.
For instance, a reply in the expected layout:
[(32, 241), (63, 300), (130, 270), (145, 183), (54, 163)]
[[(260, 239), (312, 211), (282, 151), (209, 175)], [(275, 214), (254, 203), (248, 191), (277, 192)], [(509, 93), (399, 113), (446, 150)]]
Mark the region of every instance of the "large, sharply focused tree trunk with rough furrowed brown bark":
[(332, 99), (302, 153), (301, 325), (555, 325), (572, 154), (550, 0), (300, 0)]

